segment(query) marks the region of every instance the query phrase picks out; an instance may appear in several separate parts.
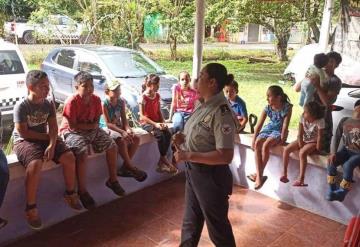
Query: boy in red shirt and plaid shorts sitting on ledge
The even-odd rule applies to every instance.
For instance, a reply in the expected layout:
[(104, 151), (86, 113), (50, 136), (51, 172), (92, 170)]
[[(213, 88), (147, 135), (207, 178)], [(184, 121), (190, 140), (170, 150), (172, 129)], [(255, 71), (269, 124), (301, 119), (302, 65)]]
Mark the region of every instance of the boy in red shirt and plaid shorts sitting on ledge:
[(77, 93), (64, 104), (60, 133), (75, 153), (80, 201), (86, 209), (91, 209), (95, 207), (95, 201), (86, 186), (89, 145), (95, 153), (106, 153), (109, 179), (105, 185), (118, 196), (123, 196), (125, 191), (116, 176), (117, 147), (109, 135), (99, 127), (102, 115), (101, 100), (94, 95), (93, 77), (88, 72), (80, 71), (74, 80)]

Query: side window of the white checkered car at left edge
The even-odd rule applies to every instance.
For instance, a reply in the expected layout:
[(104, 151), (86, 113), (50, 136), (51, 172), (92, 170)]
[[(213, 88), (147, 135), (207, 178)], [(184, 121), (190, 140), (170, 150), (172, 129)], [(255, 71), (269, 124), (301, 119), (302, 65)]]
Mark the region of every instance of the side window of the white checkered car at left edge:
[(0, 75), (25, 73), (21, 60), (15, 50), (0, 50)]

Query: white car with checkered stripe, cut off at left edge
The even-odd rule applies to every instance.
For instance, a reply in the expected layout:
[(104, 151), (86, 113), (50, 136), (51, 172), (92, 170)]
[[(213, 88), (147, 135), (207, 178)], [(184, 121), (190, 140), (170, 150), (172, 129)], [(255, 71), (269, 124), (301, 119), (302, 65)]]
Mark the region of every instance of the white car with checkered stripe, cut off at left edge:
[(25, 59), (16, 45), (0, 39), (0, 110), (3, 121), (12, 122), (13, 108), (26, 95)]

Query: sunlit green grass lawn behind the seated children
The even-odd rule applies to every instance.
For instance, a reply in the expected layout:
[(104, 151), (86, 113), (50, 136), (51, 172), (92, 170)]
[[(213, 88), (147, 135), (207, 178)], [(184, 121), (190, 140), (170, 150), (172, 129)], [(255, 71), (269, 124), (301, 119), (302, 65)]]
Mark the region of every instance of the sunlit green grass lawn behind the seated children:
[[(149, 49), (144, 51), (154, 59), (168, 73), (178, 75), (180, 71), (192, 71), (192, 49), (179, 48), (178, 61), (170, 60), (168, 49)], [(46, 51), (23, 52), (30, 69), (38, 69), (45, 58)], [(290, 51), (290, 56), (293, 51)], [(249, 58), (261, 58), (274, 61), (274, 63), (251, 63)], [(239, 83), (239, 95), (242, 97), (249, 113), (260, 115), (267, 104), (266, 90), (270, 85), (279, 84), (282, 80), (282, 73), (287, 63), (275, 62), (276, 57), (272, 51), (260, 50), (229, 50), (226, 48), (204, 49), (204, 64), (208, 62), (219, 62), (224, 64), (229, 73), (235, 75)], [(290, 129), (297, 129), (301, 108), (298, 105), (299, 94), (294, 92), (289, 84), (280, 84), (285, 93), (293, 103), (293, 115), (290, 122)]]

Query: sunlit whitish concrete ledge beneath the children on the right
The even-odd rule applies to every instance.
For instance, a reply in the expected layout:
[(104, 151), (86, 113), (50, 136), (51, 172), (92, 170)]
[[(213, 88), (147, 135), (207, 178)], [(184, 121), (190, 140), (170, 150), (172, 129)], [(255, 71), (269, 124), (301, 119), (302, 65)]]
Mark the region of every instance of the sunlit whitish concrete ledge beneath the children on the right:
[[(230, 168), (235, 184), (253, 190), (254, 183), (246, 178), (246, 175), (256, 171), (254, 151), (251, 149), (252, 136), (240, 135), (240, 139), (241, 142), (235, 146), (234, 159)], [(290, 182), (286, 184), (280, 182), (279, 179), (283, 170), (283, 148), (277, 146), (271, 149), (270, 159), (264, 171), (264, 175), (268, 176), (268, 179), (258, 192), (343, 224), (347, 224), (352, 216), (358, 214), (360, 211), (359, 181), (354, 184), (344, 202), (329, 202), (325, 199), (328, 190), (325, 156), (312, 155), (309, 157), (305, 175), (305, 182), (309, 184), (308, 187), (292, 186), (299, 174), (297, 154), (290, 158), (288, 169)], [(355, 177), (355, 180), (359, 179)]]

